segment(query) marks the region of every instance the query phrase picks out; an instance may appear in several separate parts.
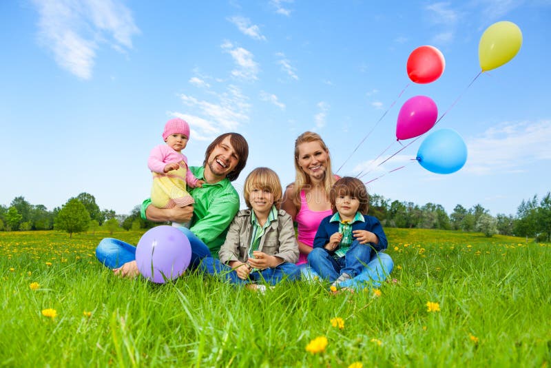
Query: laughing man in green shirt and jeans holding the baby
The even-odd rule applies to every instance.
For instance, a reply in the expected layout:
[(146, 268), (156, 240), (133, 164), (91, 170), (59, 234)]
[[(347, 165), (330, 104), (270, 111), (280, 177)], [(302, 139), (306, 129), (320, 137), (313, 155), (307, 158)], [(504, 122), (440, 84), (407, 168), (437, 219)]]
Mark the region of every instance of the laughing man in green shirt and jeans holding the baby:
[[(151, 205), (149, 198), (142, 203), (141, 215), (149, 221), (185, 223), (191, 220), (189, 229), (179, 228), (191, 244), (191, 267), (205, 256), (218, 254), (224, 243), (227, 227), (239, 210), (239, 195), (230, 182), (238, 178), (248, 156), (249, 145), (241, 134), (222, 134), (207, 147), (203, 165), (189, 167), (196, 178), (205, 181), (202, 187), (189, 191), (194, 205), (158, 208)], [(135, 254), (134, 245), (113, 238), (103, 239), (96, 248), (100, 262), (121, 276), (139, 274)]]

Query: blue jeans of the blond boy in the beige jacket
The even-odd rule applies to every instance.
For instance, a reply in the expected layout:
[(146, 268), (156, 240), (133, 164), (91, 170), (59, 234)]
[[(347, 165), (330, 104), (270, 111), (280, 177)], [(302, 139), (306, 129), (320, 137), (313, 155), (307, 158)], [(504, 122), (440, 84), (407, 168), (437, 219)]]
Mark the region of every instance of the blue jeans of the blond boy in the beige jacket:
[(273, 268), (251, 272), (247, 280), (242, 280), (239, 278), (234, 269), (224, 263), (221, 263), (220, 260), (216, 258), (204, 258), (198, 268), (202, 272), (205, 272), (205, 274), (216, 276), (222, 280), (228, 280), (230, 283), (237, 285), (258, 282), (265, 282), (269, 285), (275, 285), (280, 283), (282, 280), (295, 281), (300, 279), (300, 269), (298, 266), (294, 263), (287, 262)]

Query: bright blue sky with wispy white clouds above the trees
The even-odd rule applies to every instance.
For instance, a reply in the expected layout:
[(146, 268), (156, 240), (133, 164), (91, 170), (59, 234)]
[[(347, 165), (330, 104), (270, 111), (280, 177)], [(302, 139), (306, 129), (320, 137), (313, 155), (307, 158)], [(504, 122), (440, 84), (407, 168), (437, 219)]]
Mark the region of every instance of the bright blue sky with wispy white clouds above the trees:
[[(504, 20), (523, 33), (519, 54), (467, 88), (481, 34)], [(344, 163), (338, 174), (378, 177), (371, 193), (514, 214), (551, 190), (550, 24), (549, 0), (0, 1), (0, 204), (53, 209), (88, 192), (128, 213), (149, 196), (147, 156), (165, 121), (180, 116), (190, 165), (222, 132), (249, 141), (239, 192), (258, 166), (291, 183), (294, 140), (314, 130), (334, 170)], [(421, 45), (446, 59), (424, 85), (406, 74)], [(417, 95), (446, 112), (433, 130), (466, 142), (459, 172), (412, 161), (422, 139), (377, 166), (402, 147), (397, 114)]]

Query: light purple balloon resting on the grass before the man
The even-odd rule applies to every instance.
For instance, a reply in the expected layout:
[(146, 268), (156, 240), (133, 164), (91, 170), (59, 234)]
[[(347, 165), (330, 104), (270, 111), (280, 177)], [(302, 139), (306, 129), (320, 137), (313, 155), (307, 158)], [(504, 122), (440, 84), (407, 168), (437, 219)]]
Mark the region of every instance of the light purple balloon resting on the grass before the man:
[(176, 227), (162, 225), (147, 230), (136, 247), (142, 276), (163, 284), (182, 275), (191, 260), (189, 239)]

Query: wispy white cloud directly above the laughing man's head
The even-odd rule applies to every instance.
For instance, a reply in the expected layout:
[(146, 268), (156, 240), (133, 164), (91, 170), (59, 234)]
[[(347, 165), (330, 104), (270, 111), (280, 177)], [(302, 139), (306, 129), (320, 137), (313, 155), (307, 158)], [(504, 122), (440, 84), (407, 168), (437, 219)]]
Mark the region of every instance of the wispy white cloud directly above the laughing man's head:
[(187, 116), (189, 123), (198, 127), (201, 134), (206, 137), (222, 130), (236, 130), (249, 121), (250, 105), (239, 88), (229, 85), (226, 92), (214, 94), (214, 96), (218, 101), (199, 100), (194, 96), (180, 94), (180, 99), (191, 112), (189, 114), (173, 112), (172, 114), (183, 119)]

